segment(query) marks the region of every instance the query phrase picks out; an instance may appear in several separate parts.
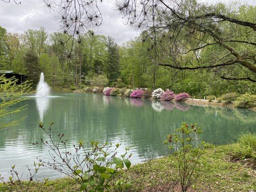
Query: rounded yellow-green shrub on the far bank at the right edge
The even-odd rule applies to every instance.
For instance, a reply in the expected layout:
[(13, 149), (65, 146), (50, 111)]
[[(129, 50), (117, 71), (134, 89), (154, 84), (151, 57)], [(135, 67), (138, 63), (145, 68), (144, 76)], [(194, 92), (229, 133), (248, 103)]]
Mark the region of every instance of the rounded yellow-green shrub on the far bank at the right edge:
[(247, 93), (239, 96), (235, 102), (237, 108), (252, 108), (256, 106), (256, 95)]

